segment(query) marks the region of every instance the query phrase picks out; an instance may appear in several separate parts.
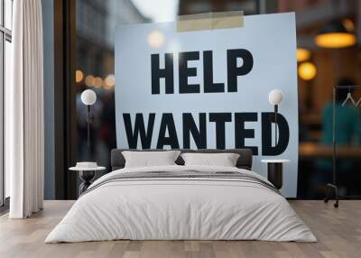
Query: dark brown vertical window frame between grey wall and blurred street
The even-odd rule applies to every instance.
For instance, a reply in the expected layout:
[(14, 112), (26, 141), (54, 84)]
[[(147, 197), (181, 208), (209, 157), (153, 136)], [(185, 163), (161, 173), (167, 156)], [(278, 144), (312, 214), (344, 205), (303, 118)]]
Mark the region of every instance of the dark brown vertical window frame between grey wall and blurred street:
[(78, 197), (78, 175), (68, 171), (77, 160), (76, 2), (54, 0), (55, 199)]

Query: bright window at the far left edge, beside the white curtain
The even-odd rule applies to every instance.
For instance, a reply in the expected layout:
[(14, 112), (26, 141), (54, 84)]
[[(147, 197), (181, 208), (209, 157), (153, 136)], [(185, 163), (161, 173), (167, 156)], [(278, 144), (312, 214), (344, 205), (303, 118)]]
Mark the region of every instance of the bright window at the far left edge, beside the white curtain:
[(10, 84), (12, 21), (13, 0), (0, 0), (0, 206), (4, 206), (5, 198), (10, 196), (10, 177), (4, 169), (4, 96), (5, 88)]

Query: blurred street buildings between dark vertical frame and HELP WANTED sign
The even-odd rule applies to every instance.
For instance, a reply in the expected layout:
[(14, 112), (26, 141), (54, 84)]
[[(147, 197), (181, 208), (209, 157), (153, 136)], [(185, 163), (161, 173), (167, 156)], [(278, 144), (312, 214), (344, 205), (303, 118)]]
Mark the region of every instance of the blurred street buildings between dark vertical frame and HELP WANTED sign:
[[(114, 35), (116, 25), (147, 23), (129, 0), (77, 1), (77, 127), (78, 160), (97, 161), (110, 169), (110, 150), (116, 148), (114, 89)], [(80, 100), (83, 90), (97, 94), (92, 106), (90, 149), (87, 146), (87, 107)]]

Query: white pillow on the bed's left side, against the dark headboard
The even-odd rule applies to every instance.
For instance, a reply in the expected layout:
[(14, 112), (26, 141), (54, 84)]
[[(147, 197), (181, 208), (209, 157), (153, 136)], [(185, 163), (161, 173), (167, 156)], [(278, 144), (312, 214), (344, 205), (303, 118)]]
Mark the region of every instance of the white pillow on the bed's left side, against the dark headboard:
[(122, 152), (125, 157), (125, 168), (169, 166), (175, 165), (174, 161), (180, 155), (180, 151), (168, 152)]

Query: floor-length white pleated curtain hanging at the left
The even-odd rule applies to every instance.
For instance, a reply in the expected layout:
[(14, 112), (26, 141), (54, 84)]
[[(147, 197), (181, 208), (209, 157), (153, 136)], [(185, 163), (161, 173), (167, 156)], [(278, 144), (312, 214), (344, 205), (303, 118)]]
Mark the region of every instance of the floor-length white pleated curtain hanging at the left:
[(11, 218), (30, 217), (43, 203), (43, 51), (41, 0), (15, 0), (12, 85), (5, 88), (5, 169)]

